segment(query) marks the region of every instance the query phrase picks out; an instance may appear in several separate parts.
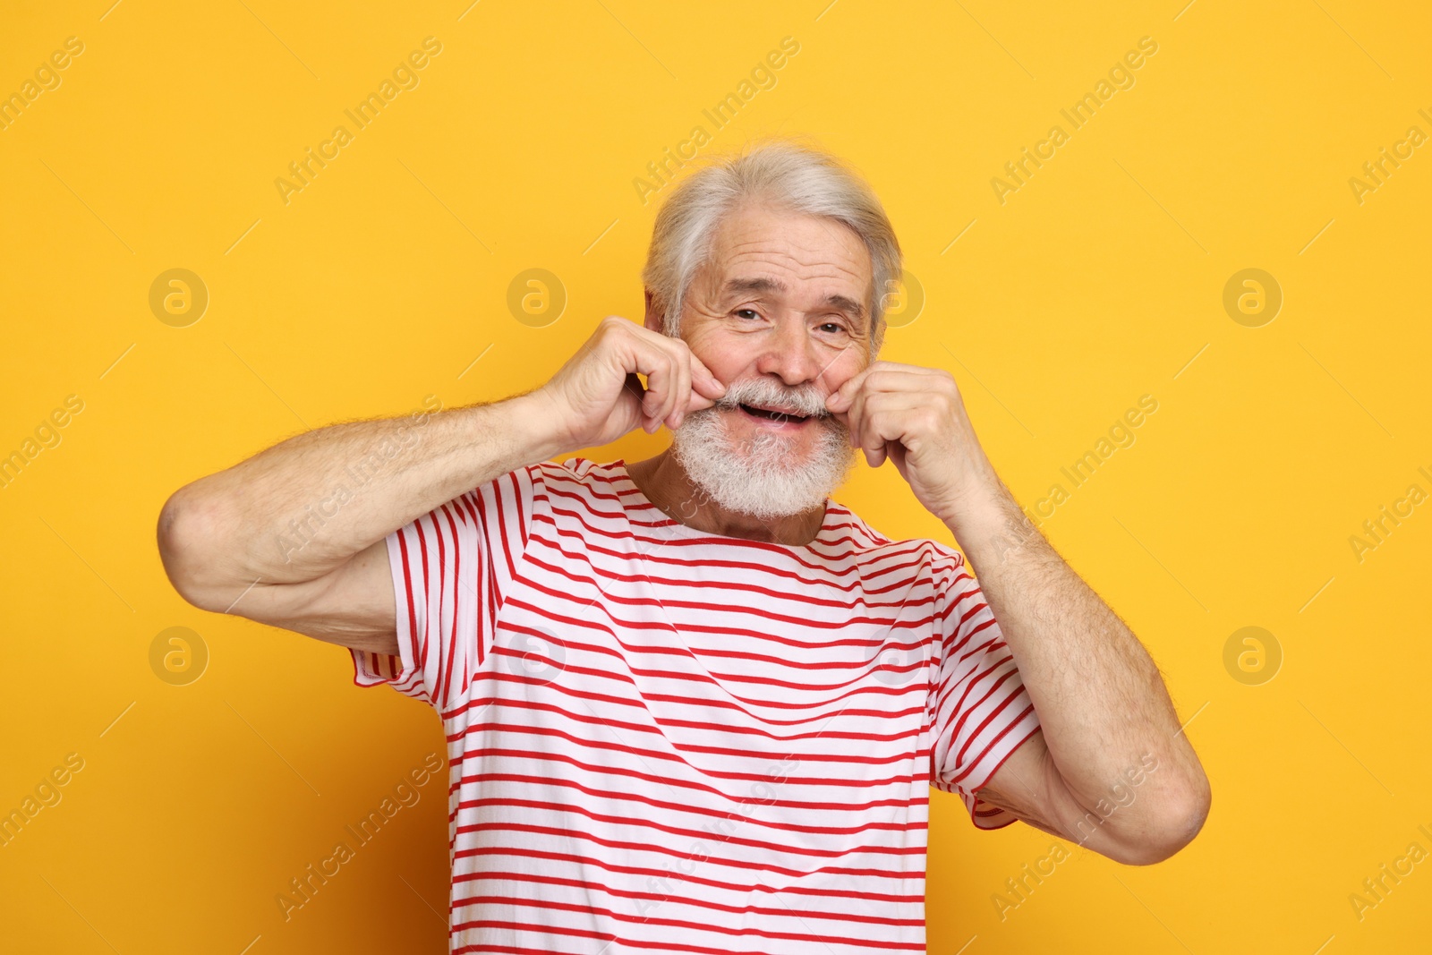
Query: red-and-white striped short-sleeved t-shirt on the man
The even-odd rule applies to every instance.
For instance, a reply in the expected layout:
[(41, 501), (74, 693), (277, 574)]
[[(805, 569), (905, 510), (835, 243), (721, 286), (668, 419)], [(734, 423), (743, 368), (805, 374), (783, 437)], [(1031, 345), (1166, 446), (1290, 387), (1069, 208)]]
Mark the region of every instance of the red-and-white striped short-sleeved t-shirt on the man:
[(710, 534), (581, 457), (387, 540), (354, 682), (442, 719), (451, 952), (924, 952), (929, 787), (1015, 820), (974, 790), (1040, 723), (949, 547)]

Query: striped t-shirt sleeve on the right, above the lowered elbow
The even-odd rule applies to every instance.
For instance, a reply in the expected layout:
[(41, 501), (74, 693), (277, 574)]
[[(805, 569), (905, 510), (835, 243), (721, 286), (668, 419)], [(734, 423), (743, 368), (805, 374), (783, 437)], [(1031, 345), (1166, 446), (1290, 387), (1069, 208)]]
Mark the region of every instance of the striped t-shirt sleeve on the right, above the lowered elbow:
[(975, 790), (1040, 729), (1040, 719), (994, 611), (957, 551), (937, 566), (935, 611), (931, 785), (958, 793), (978, 829), (1000, 829), (1018, 818)]

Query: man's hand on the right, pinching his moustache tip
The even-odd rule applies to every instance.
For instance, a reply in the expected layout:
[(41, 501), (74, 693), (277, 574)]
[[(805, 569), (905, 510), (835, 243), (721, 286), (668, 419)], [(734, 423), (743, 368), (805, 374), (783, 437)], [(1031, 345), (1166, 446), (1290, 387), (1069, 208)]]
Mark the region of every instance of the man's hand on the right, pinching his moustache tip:
[(1000, 488), (948, 371), (878, 361), (832, 392), (826, 408), (872, 468), (894, 461), (945, 524)]

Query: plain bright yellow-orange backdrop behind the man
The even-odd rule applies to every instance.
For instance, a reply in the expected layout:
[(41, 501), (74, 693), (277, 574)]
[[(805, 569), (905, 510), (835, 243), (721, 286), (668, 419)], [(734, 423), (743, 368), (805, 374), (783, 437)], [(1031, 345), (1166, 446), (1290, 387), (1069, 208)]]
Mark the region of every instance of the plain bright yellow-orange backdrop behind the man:
[[(0, 94), (83, 44), (0, 129), (0, 454), (83, 401), (0, 487), (0, 812), (83, 760), (0, 846), (0, 948), (442, 951), (441, 783), (292, 918), (275, 902), (442, 753), (435, 714), (354, 687), (341, 649), (188, 606), (155, 521), (288, 435), (505, 397), (601, 316), (640, 319), (666, 192), (643, 203), (634, 180), (696, 125), (703, 156), (805, 133), (871, 179), (924, 289), (882, 358), (955, 375), (1025, 507), (1065, 484), (1042, 530), (1148, 646), (1213, 782), (1171, 861), (1075, 853), (1004, 918), (992, 896), (1051, 839), (979, 833), (934, 795), (931, 949), (1425, 948), (1432, 865), (1360, 918), (1349, 899), (1432, 850), (1432, 508), (1350, 543), (1432, 491), (1432, 147), (1349, 183), (1432, 133), (1425, 4), (109, 1), (11, 7), (0, 29)], [(441, 53), (417, 86), (285, 202), (275, 179), (425, 37)], [(702, 110), (783, 37), (799, 52), (713, 129)], [(1133, 84), (1067, 125), (1141, 37), (1157, 52)], [(1054, 125), (1067, 142), (1001, 202), (991, 180)], [(160, 321), (150, 288), (176, 268), (208, 305)], [(533, 268), (560, 316), (510, 311)], [(1224, 286), (1249, 268), (1282, 306), (1234, 321)], [(1133, 444), (1071, 488), (1061, 468), (1143, 395)], [(948, 543), (894, 467), (836, 497)], [(1249, 626), (1262, 657), (1226, 666)], [(208, 653), (186, 684), (152, 664), (169, 627)]]

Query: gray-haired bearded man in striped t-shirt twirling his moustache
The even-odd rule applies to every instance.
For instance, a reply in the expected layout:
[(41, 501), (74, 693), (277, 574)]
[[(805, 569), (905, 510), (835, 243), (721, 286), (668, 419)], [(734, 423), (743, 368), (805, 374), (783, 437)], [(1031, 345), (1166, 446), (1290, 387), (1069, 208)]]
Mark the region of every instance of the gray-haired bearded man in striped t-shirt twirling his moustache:
[[(166, 503), (186, 600), (349, 647), (357, 684), (438, 710), (453, 952), (922, 952), (931, 786), (1130, 865), (1203, 825), (1143, 646), (1024, 517), (954, 378), (875, 359), (899, 275), (859, 175), (762, 143), (662, 208), (644, 326)], [(551, 461), (663, 424), (654, 458)], [(828, 497), (856, 448), (968, 566)]]

